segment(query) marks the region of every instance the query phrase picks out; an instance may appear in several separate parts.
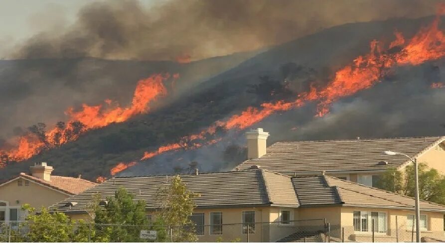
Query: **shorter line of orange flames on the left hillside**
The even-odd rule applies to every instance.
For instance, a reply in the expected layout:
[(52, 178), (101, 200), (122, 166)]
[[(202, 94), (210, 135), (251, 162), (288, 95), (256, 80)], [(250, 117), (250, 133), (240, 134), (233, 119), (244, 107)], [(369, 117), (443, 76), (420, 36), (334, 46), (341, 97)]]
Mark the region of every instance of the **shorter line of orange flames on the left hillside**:
[[(179, 77), (173, 75), (173, 81)], [(70, 107), (65, 112), (67, 122), (58, 123), (54, 128), (44, 132), (40, 138), (28, 133), (16, 138), (16, 147), (12, 149), (0, 149), (0, 155), (5, 155), (8, 161), (22, 161), (38, 154), (43, 149), (59, 146), (68, 141), (73, 141), (78, 136), (90, 129), (107, 126), (111, 123), (122, 123), (139, 114), (149, 111), (148, 104), (158, 97), (165, 96), (167, 90), (163, 82), (170, 78), (168, 74), (154, 74), (147, 79), (140, 80), (136, 85), (132, 103), (129, 107), (121, 108), (112, 100), (105, 100), (105, 105), (82, 105), (80, 111)], [(0, 162), (0, 167), (2, 163)]]

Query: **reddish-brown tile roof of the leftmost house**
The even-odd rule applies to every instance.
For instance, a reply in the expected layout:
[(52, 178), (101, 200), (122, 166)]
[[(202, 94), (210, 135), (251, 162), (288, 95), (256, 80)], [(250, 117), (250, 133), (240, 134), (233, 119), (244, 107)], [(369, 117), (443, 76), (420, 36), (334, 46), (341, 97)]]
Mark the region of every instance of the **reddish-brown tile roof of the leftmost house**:
[(50, 181), (45, 181), (43, 179), (31, 176), (31, 175), (27, 175), (25, 173), (20, 173), (20, 175), (18, 175), (18, 177), (22, 177), (24, 179), (28, 179), (28, 180), (40, 183), (42, 185), (51, 187), (53, 189), (57, 189), (59, 191), (62, 191), (64, 193), (67, 193), (70, 195), (79, 194), (91, 187), (94, 187), (97, 184), (97, 183), (94, 183), (94, 182), (91, 182), (88, 180), (84, 180), (84, 179), (80, 179), (80, 178), (57, 176), (57, 175), (51, 175)]

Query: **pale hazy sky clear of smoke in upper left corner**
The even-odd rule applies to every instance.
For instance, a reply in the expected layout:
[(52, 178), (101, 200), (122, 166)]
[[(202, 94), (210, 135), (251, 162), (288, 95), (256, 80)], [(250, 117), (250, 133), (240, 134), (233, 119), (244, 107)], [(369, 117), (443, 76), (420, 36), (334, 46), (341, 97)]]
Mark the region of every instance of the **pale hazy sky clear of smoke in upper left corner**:
[[(149, 6), (167, 0), (139, 1)], [(0, 0), (0, 45), (23, 40), (48, 26), (71, 24), (89, 2), (93, 0)]]

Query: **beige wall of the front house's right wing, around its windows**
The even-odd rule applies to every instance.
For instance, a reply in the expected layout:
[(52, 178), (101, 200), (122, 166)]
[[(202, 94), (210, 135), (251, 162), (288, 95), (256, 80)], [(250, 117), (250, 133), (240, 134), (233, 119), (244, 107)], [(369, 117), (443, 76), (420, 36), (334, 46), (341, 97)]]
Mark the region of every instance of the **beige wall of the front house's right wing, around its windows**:
[[(341, 226), (332, 225), (332, 236), (341, 238), (341, 228), (344, 228), (345, 241), (372, 242), (372, 232), (354, 232), (353, 212), (369, 211), (384, 212), (387, 215), (387, 232), (375, 233), (375, 242), (399, 242), (411, 241), (412, 231), (407, 229), (407, 215), (413, 215), (413, 211), (401, 209), (374, 209), (374, 208), (341, 208)], [(422, 231), (421, 237), (431, 237), (445, 240), (444, 236), (444, 213), (421, 212), (427, 215), (428, 231)], [(397, 217), (397, 226), (396, 226)], [(398, 230), (396, 230), (398, 229)], [(414, 235), (414, 237), (416, 237)], [(414, 238), (414, 240), (416, 240)]]

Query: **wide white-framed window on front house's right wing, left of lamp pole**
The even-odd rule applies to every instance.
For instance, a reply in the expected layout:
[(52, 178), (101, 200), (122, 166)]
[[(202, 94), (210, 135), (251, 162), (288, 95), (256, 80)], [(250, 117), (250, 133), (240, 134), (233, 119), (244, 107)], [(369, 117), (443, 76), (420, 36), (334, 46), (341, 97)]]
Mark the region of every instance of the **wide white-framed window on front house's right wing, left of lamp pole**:
[[(369, 218), (371, 216), (371, 218)], [(386, 232), (386, 213), (354, 211), (353, 224), (354, 231), (372, 232), (372, 221), (374, 220), (374, 232)]]

